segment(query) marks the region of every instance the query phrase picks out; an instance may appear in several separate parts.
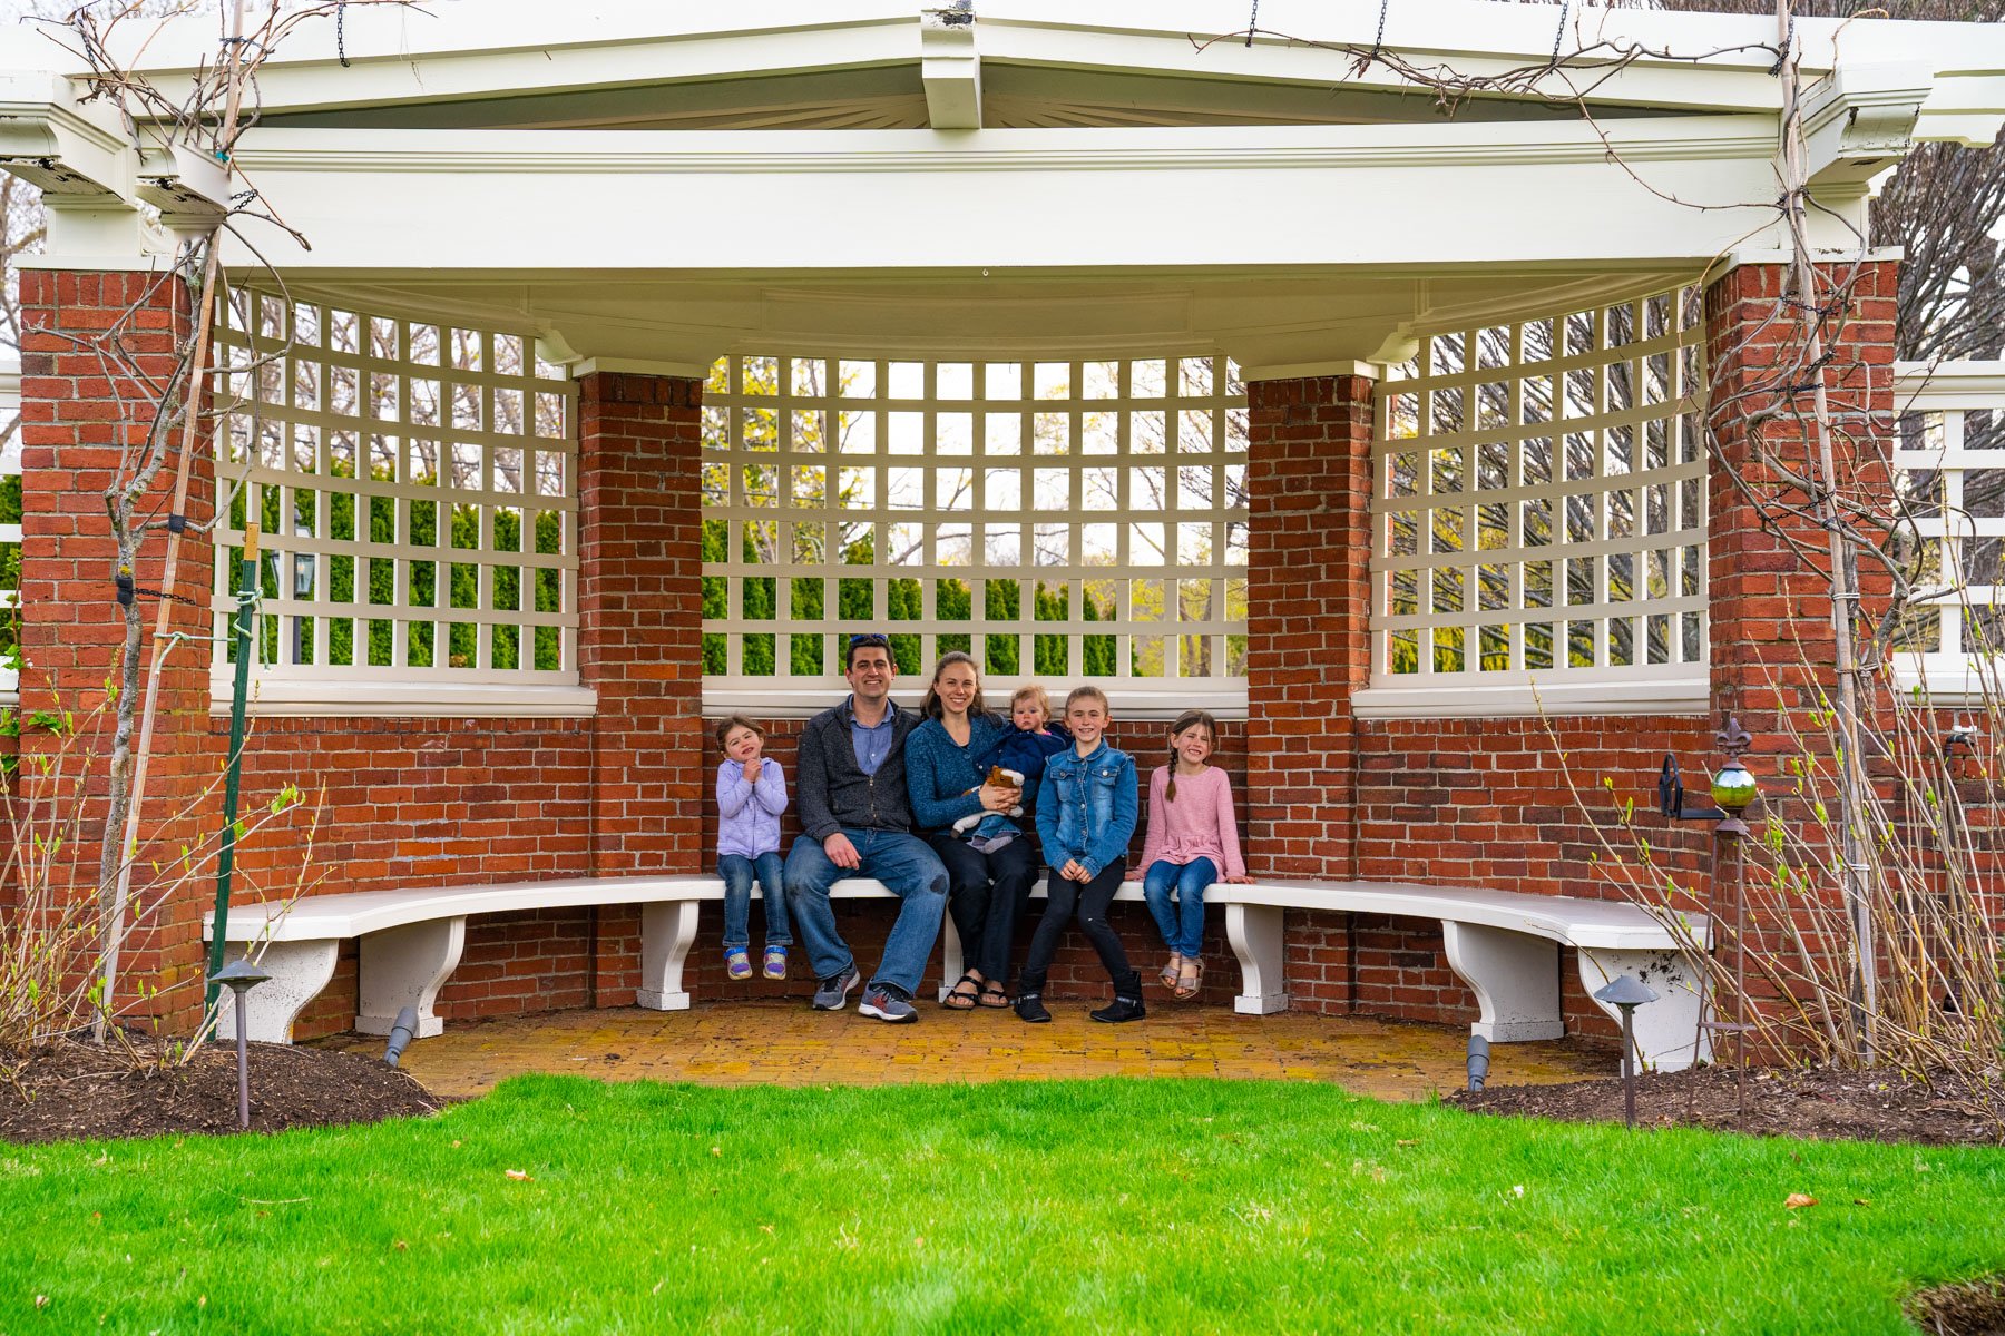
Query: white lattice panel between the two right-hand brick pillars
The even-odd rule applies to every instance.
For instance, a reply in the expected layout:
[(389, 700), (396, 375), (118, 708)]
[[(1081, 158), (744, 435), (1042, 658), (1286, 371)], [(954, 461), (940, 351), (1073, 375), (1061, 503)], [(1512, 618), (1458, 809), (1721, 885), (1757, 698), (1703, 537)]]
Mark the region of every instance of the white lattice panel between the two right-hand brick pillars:
[(1702, 332), (1680, 288), (1440, 332), (1379, 385), (1373, 689), (1704, 677)]

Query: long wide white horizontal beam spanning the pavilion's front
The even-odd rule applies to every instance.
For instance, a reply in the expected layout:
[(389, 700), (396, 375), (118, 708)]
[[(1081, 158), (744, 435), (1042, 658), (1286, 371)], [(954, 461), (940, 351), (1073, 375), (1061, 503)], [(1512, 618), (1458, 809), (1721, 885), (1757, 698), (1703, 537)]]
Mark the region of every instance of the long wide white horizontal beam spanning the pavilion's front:
[[(1580, 122), (978, 134), (255, 130), (239, 168), (311, 238), (309, 252), (261, 234), (275, 264), (351, 276), (1662, 266), (1710, 258), (1772, 222), (1770, 118), (1624, 120), (1606, 132), (1608, 142)], [(1610, 146), (1622, 164), (1608, 162)], [(772, 198), (816, 202), (812, 244), (792, 210), (728, 206)], [(702, 200), (716, 204), (692, 206)], [(1813, 244), (1845, 242), (1837, 226), (1827, 230), (1833, 236)], [(227, 258), (255, 262), (241, 244)]]

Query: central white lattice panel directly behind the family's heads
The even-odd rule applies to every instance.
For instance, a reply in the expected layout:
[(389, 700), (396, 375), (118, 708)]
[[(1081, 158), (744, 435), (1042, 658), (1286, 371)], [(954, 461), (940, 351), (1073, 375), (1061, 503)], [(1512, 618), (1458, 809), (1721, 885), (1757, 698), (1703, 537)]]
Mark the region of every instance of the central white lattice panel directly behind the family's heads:
[(706, 699), (842, 689), (840, 639), (990, 689), (1243, 701), (1245, 387), (1223, 357), (728, 357), (704, 391)]

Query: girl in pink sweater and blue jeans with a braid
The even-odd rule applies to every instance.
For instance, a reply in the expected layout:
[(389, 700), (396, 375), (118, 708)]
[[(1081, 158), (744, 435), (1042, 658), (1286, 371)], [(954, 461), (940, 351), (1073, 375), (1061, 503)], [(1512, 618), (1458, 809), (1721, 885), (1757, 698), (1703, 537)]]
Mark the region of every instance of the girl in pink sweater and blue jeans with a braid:
[(1225, 877), (1247, 881), (1239, 857), (1233, 785), (1223, 769), (1205, 765), (1217, 723), (1187, 709), (1169, 725), (1169, 765), (1149, 777), (1149, 833), (1141, 845), (1143, 899), (1169, 947), (1159, 975), (1179, 999), (1197, 995), (1205, 977), (1205, 887)]

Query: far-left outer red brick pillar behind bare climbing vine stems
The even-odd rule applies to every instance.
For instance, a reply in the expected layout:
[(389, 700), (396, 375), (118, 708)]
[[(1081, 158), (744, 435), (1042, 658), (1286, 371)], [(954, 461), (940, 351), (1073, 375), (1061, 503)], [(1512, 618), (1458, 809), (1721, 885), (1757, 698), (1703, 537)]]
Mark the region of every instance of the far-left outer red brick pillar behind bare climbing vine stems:
[[(116, 603), (116, 545), (104, 491), (146, 449), (156, 413), (142, 377), (166, 383), (176, 343), (190, 339), (190, 300), (178, 278), (158, 272), (24, 270), (22, 304), (22, 799), (30, 819), (78, 823), (64, 833), (72, 857), (54, 873), (64, 893), (98, 893), (98, 851), (108, 803), (114, 705), (106, 681), (124, 643)], [(172, 433), (178, 447), (180, 433)], [(166, 515), (174, 457), (154, 491)], [(188, 519), (213, 511), (207, 437), (196, 437)], [(166, 537), (140, 547), (134, 581), (160, 589)], [(209, 723), (209, 597), (213, 549), (184, 535), (170, 625), (192, 635), (172, 649), (160, 679), (140, 849), (132, 873), (134, 925), (120, 951), (114, 1008), (192, 1030), (203, 1004), (200, 915), (213, 903), (209, 875), (182, 877), (180, 847), (215, 835), (215, 791), (225, 743)], [(142, 655), (152, 653), (154, 595), (140, 595)], [(144, 681), (144, 661), (142, 661)], [(136, 703), (136, 699), (134, 699)], [(62, 741), (34, 723), (36, 711), (70, 711), (76, 735)], [(136, 729), (134, 729), (136, 733)], [(44, 761), (48, 767), (44, 773)], [(192, 811), (190, 811), (192, 807)], [(168, 819), (174, 815), (180, 819)]]

